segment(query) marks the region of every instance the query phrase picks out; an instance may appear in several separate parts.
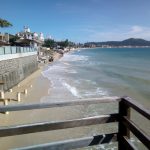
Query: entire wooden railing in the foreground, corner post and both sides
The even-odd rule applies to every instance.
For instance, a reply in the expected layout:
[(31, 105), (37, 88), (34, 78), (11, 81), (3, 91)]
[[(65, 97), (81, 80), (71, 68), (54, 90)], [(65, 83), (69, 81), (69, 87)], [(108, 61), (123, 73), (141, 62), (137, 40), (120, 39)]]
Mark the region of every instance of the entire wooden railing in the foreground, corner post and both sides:
[(137, 149), (130, 141), (130, 132), (132, 132), (148, 149), (150, 149), (150, 137), (138, 127), (132, 120), (130, 120), (130, 108), (133, 108), (145, 118), (150, 120), (150, 111), (143, 108), (142, 105), (137, 104), (129, 97), (107, 97), (95, 99), (80, 99), (74, 101), (63, 101), (54, 103), (38, 103), (38, 104), (23, 104), (23, 105), (8, 105), (0, 106), (0, 112), (7, 111), (22, 111), (32, 109), (43, 109), (52, 107), (75, 106), (75, 105), (90, 105), (99, 103), (116, 102), (119, 105), (118, 113), (93, 116), (81, 119), (57, 121), (57, 122), (41, 122), (26, 125), (16, 125), (9, 127), (0, 127), (0, 137), (28, 134), (35, 132), (43, 132), (50, 130), (67, 129), (81, 126), (89, 126), (96, 124), (104, 124), (110, 122), (118, 122), (118, 132), (110, 134), (102, 134), (97, 136), (78, 138), (55, 143), (47, 143), (42, 145), (35, 145), (24, 147), (20, 149), (48, 149), (48, 150), (68, 150), (75, 148), (88, 147), (104, 143), (118, 141), (119, 150), (135, 150)]

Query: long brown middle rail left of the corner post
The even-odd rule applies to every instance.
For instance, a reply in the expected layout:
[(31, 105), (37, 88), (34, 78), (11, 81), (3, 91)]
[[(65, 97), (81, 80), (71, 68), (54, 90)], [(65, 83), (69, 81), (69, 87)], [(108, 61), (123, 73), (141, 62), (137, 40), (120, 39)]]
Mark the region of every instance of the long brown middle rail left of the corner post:
[(103, 124), (117, 121), (117, 119), (118, 114), (111, 114), (59, 122), (40, 122), (34, 124), (1, 127), (0, 137)]

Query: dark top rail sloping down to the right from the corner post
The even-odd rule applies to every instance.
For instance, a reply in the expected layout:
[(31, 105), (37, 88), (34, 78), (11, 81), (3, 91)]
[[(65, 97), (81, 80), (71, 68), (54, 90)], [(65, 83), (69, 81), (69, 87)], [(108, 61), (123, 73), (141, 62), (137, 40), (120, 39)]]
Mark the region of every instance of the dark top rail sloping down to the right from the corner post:
[(125, 101), (127, 105), (135, 109), (137, 112), (145, 116), (147, 119), (150, 120), (150, 110), (145, 109), (141, 104), (137, 103), (136, 101), (132, 100), (130, 97), (124, 97), (122, 100)]

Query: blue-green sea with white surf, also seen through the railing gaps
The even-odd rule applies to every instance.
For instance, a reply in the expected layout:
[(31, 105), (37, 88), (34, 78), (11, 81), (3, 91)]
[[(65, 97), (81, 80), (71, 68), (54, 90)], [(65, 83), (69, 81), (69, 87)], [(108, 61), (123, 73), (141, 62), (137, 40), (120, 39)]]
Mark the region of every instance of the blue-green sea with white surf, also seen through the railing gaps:
[[(49, 96), (41, 99), (42, 102), (126, 95), (150, 108), (150, 48), (76, 50), (50, 64), (42, 74), (51, 82)], [(82, 117), (109, 114), (117, 112), (117, 106), (101, 104), (86, 106), (79, 111)], [(147, 120), (134, 111), (131, 118), (150, 134)], [(116, 126), (111, 124), (108, 129), (105, 126), (90, 128), (87, 134), (114, 130)], [(145, 149), (134, 136), (131, 141)], [(110, 149), (117, 148), (111, 146)]]

